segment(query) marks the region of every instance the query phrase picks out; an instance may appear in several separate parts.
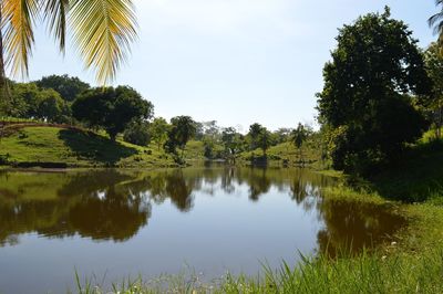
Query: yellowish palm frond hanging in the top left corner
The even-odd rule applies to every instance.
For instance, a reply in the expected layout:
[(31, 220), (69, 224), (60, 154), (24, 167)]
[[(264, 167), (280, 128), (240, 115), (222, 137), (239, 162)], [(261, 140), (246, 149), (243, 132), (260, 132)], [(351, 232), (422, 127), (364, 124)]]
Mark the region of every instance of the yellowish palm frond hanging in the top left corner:
[(28, 61), (32, 53), (32, 27), (38, 18), (38, 0), (3, 0), (6, 63), (11, 74), (28, 76)]

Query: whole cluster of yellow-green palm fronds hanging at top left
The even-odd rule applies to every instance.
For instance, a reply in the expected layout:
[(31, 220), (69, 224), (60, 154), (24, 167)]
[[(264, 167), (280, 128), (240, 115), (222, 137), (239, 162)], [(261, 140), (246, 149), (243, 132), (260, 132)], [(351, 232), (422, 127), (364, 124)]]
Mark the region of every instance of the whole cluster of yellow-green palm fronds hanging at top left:
[(8, 91), (7, 67), (28, 76), (38, 22), (48, 25), (62, 53), (70, 34), (103, 85), (114, 80), (136, 39), (132, 0), (0, 0), (0, 88)]

